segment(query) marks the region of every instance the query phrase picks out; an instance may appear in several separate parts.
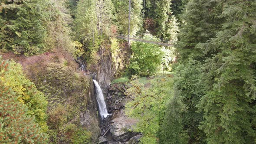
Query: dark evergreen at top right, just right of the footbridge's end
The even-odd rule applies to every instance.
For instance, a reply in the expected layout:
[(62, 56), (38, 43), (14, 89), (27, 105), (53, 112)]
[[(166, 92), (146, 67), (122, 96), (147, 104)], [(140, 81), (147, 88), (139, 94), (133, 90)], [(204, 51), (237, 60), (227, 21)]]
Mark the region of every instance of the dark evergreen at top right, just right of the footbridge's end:
[(218, 18), (214, 16), (216, 11), (213, 7), (217, 4), (210, 0), (190, 0), (183, 14), (180, 16), (184, 21), (179, 34), (177, 53), (180, 62), (186, 63), (190, 58), (203, 60), (203, 49), (199, 43), (205, 43), (214, 37)]

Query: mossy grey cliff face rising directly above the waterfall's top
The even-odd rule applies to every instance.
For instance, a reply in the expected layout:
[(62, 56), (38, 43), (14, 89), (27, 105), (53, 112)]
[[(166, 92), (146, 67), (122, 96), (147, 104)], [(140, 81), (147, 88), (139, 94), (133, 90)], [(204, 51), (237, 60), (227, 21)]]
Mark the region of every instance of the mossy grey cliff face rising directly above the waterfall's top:
[(101, 46), (98, 50), (96, 70), (92, 72), (95, 73), (95, 79), (105, 94), (108, 92), (111, 80), (125, 71), (131, 56), (131, 49), (127, 43), (119, 44), (119, 49), (115, 51), (113, 52), (109, 44)]

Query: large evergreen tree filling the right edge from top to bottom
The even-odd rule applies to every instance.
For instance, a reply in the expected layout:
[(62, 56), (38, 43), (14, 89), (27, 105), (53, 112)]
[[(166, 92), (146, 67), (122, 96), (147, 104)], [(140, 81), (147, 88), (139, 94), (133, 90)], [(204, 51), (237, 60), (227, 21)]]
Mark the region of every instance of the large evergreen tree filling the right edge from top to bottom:
[(222, 27), (205, 44), (206, 95), (201, 129), (209, 144), (256, 143), (256, 2), (222, 0)]

